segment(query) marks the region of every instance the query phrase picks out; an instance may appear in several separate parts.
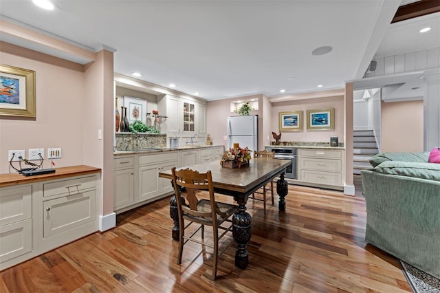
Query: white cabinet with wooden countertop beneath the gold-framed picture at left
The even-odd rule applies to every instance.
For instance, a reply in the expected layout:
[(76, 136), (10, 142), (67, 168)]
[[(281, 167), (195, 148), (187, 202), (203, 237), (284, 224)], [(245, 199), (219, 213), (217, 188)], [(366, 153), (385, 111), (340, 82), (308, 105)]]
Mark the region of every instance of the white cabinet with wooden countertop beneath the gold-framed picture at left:
[(99, 230), (100, 170), (63, 167), (53, 177), (0, 188), (0, 270)]

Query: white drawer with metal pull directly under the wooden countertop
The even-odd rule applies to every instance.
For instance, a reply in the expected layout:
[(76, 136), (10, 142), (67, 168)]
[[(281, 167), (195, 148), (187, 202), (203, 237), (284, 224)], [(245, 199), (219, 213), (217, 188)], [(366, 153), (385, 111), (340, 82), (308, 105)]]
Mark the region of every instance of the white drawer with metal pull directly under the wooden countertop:
[(96, 176), (67, 179), (43, 184), (43, 197), (75, 195), (89, 188), (96, 188)]

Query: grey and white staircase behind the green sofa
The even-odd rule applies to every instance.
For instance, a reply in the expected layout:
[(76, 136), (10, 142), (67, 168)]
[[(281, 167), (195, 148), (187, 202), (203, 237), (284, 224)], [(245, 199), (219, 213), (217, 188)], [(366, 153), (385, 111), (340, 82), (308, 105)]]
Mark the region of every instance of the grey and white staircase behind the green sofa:
[(369, 159), (379, 153), (373, 130), (353, 131), (353, 174), (370, 169)]

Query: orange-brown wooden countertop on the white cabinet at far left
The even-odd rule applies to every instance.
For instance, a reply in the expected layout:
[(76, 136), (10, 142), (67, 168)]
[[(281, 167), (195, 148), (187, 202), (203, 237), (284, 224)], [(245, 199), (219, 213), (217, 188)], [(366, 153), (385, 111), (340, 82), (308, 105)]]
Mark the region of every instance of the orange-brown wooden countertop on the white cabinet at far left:
[(61, 179), (64, 177), (71, 177), (74, 175), (85, 175), (90, 173), (99, 173), (101, 169), (78, 165), (56, 168), (55, 173), (34, 175), (34, 176), (23, 176), (17, 172), (11, 174), (0, 174), (0, 187), (13, 186), (17, 184), (27, 184), (34, 183), (45, 180)]

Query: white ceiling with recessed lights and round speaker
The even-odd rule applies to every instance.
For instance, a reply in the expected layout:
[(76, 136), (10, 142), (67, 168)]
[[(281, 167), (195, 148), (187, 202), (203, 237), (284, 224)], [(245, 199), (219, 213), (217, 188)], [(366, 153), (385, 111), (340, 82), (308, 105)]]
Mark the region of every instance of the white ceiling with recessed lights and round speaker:
[[(337, 89), (362, 78), (374, 56), (440, 43), (439, 13), (390, 25), (400, 0), (53, 2), (46, 11), (31, 0), (0, 0), (0, 17), (93, 52), (111, 48), (115, 72), (141, 72), (207, 100)], [(421, 36), (427, 23), (434, 29)], [(321, 46), (333, 50), (311, 54)]]

